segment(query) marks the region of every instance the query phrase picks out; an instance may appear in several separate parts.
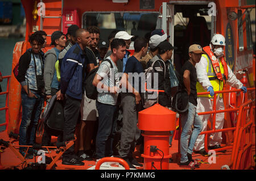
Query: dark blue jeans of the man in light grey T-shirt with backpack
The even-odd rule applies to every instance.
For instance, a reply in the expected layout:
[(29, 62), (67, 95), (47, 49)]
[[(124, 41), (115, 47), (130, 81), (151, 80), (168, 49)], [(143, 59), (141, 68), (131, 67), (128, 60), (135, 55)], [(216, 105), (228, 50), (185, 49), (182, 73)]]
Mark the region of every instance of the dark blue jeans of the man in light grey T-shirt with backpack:
[(96, 101), (98, 110), (98, 132), (96, 136), (96, 158), (113, 155), (113, 141), (116, 127), (116, 106)]

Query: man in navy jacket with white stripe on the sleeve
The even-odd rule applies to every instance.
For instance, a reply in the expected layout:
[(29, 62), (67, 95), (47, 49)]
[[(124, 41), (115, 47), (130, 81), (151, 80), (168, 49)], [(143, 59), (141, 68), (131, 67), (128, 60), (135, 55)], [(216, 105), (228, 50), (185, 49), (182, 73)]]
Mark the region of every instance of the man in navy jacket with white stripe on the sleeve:
[[(79, 119), (81, 99), (82, 99), (82, 82), (86, 73), (86, 56), (84, 50), (90, 43), (89, 31), (80, 28), (76, 32), (77, 43), (73, 45), (63, 58), (61, 63), (61, 83), (60, 94), (57, 99), (64, 100), (64, 141), (74, 140), (74, 133)], [(64, 165), (84, 165), (74, 153), (74, 147), (71, 146), (63, 154), (62, 164)]]

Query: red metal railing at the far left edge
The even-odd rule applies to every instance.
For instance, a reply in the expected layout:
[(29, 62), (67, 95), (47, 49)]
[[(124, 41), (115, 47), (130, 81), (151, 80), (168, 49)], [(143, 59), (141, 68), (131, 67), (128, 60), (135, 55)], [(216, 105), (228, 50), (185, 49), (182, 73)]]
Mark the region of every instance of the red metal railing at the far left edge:
[[(5, 110), (5, 123), (1, 123), (0, 127), (6, 126), (5, 130), (8, 129), (8, 121), (9, 121), (9, 106), (8, 106), (8, 100), (9, 100), (9, 85), (10, 85), (10, 78), (11, 75), (3, 76), (3, 79), (7, 79), (7, 86), (6, 91), (0, 92), (0, 95), (6, 95), (5, 98), (5, 107), (0, 107), (0, 111)], [(5, 131), (3, 130), (3, 131)]]

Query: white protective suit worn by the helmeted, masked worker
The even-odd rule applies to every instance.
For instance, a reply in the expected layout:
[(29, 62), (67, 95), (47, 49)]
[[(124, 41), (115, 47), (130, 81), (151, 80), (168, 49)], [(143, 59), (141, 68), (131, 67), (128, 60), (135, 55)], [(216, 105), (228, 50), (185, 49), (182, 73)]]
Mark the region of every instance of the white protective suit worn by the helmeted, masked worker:
[[(220, 62), (219, 58), (218, 58), (218, 61)], [(200, 62), (196, 64), (196, 75), (197, 75), (197, 81), (199, 81), (199, 83), (203, 86), (205, 91), (207, 91), (209, 86), (212, 86), (207, 76), (207, 67), (208, 67), (207, 58), (202, 56)], [(229, 68), (229, 66), (228, 66), (228, 79), (226, 80), (226, 83), (228, 83), (232, 87), (236, 87), (236, 89), (241, 89), (241, 87), (243, 86), (243, 84), (236, 78), (236, 75), (234, 75), (234, 73)], [(218, 94), (216, 98), (216, 110), (224, 110), (224, 109), (225, 107), (224, 107), (223, 99), (222, 97), (220, 97), (220, 94)], [(197, 97), (197, 110), (196, 110), (197, 113), (207, 112), (212, 110), (213, 110), (213, 98)], [(216, 130), (223, 128), (224, 116), (225, 116), (224, 112), (216, 114), (216, 124), (215, 124)], [(203, 121), (202, 132), (207, 131), (207, 121), (209, 120), (210, 115), (200, 115), (199, 117)], [(212, 123), (212, 119), (210, 119), (210, 121)], [(222, 141), (221, 134), (222, 134), (221, 132), (210, 134), (209, 146), (220, 145)], [(197, 138), (196, 144), (194, 147), (195, 151), (199, 151), (204, 148), (204, 136), (205, 134), (201, 134)]]

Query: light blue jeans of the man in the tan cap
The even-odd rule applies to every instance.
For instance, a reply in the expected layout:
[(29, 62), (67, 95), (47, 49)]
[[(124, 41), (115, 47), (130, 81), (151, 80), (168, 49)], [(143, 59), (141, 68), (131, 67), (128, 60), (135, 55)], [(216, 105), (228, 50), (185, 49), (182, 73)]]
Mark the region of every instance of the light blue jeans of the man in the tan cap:
[(181, 114), (181, 128), (180, 163), (184, 163), (188, 161), (187, 153), (193, 153), (196, 139), (203, 129), (203, 123), (196, 113), (196, 106), (190, 102), (188, 111)]

